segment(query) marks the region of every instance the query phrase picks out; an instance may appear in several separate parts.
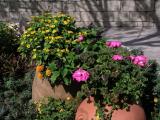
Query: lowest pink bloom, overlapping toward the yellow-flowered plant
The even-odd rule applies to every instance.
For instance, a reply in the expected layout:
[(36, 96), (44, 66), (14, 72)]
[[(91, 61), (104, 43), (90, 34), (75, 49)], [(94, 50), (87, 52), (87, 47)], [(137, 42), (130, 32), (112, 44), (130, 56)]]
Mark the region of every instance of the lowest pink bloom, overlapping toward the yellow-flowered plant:
[(87, 81), (87, 79), (89, 78), (89, 73), (81, 68), (79, 68), (78, 70), (76, 70), (73, 74), (72, 74), (72, 78), (78, 82), (80, 81)]

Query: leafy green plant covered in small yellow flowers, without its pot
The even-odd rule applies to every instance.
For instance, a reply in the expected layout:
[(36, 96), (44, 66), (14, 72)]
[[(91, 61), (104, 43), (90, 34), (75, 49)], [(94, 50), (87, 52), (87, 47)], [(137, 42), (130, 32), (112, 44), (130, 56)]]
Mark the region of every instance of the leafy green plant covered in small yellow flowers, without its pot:
[[(70, 85), (71, 73), (76, 67), (74, 59), (95, 40), (97, 31), (91, 27), (76, 27), (75, 20), (69, 15), (58, 13), (53, 16), (45, 13), (32, 18), (28, 29), (21, 36), (18, 51), (23, 56), (31, 54), (37, 65), (44, 65), (42, 74), (50, 78), (52, 85)], [(79, 36), (85, 40), (78, 41)], [(52, 72), (51, 76), (45, 74), (48, 69)]]

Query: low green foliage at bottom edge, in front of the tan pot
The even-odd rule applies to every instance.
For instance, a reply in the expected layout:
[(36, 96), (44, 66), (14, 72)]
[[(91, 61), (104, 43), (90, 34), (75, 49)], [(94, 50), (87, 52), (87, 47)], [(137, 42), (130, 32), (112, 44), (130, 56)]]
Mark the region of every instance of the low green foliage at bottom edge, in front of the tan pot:
[(47, 104), (39, 105), (38, 120), (74, 120), (79, 101), (49, 99)]

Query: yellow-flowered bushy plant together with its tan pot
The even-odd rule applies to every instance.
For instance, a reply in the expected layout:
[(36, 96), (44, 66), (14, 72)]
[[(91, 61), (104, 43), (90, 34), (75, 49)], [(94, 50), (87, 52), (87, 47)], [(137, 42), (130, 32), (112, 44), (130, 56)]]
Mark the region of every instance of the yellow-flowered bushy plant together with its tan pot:
[(32, 17), (21, 36), (18, 51), (23, 56), (30, 54), (37, 66), (32, 86), (33, 100), (51, 96), (67, 99), (76, 95), (80, 86), (77, 87), (71, 77), (77, 65), (74, 59), (85, 50), (89, 40), (95, 39), (96, 31), (76, 27), (74, 18), (63, 13)]

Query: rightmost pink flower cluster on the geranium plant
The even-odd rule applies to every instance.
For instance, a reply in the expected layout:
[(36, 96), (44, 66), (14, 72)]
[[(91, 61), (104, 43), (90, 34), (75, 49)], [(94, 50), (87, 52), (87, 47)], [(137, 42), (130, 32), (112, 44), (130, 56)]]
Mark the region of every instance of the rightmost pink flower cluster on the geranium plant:
[(133, 62), (133, 64), (138, 65), (140, 67), (144, 67), (148, 59), (144, 55), (138, 55), (138, 56), (129, 56), (129, 59)]

